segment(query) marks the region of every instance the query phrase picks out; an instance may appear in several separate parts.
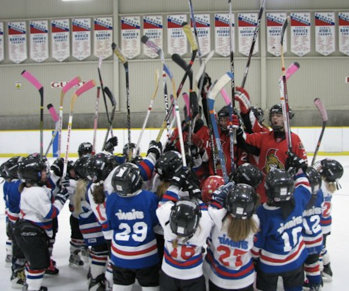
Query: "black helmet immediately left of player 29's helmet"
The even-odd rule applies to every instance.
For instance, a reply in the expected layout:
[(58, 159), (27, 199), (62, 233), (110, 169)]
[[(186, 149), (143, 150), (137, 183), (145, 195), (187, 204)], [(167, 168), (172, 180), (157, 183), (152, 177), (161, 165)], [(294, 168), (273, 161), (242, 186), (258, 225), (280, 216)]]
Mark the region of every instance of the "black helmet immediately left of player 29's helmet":
[(112, 155), (99, 153), (92, 155), (87, 164), (86, 177), (91, 182), (101, 182), (109, 175), (117, 162)]

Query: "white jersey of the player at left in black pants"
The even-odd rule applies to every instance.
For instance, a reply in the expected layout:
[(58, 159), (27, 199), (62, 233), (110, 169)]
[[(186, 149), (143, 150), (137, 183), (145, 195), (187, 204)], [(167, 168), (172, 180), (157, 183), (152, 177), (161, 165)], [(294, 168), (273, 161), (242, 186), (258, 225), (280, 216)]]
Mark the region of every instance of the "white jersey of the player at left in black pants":
[(21, 193), (20, 218), (29, 220), (43, 228), (52, 238), (52, 219), (57, 217), (63, 204), (54, 200), (51, 190), (46, 186), (24, 187)]

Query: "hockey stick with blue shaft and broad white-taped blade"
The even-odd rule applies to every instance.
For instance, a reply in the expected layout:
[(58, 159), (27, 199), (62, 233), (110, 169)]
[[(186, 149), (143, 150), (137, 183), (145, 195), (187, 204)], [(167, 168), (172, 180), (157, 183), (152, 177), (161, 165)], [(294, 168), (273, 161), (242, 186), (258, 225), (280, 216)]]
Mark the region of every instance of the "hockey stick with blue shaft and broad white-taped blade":
[[(208, 99), (207, 99), (207, 104), (208, 108), (210, 110), (210, 117), (211, 117), (211, 123), (213, 127), (213, 132), (216, 140), (216, 146), (218, 149), (218, 155), (221, 161), (221, 168), (222, 168), (222, 173), (223, 173), (223, 178), (225, 183), (229, 182), (228, 174), (227, 174), (227, 168), (225, 167), (225, 161), (224, 161), (224, 155), (223, 155), (223, 149), (221, 145), (221, 139), (219, 136), (218, 132), (218, 126), (216, 122), (216, 116), (215, 116), (215, 109), (214, 109), (214, 104), (215, 104), (215, 99), (220, 90), (227, 85), (231, 79), (234, 78), (233, 74), (231, 72), (225, 73), (216, 83), (213, 85), (213, 88), (209, 90), (208, 94)], [(212, 151), (214, 151), (214, 148), (212, 148)], [(231, 157), (232, 158), (232, 157)]]

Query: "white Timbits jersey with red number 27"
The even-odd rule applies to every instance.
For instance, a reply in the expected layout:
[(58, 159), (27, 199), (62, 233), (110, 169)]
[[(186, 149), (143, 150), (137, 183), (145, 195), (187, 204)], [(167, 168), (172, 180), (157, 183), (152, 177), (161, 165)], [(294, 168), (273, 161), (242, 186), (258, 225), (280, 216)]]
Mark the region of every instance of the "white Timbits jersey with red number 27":
[[(255, 277), (251, 255), (254, 233), (250, 233), (244, 240), (233, 241), (227, 233), (229, 219), (224, 219), (227, 210), (209, 206), (208, 213), (215, 224), (208, 239), (206, 262), (209, 268), (205, 268), (207, 271), (205, 275), (223, 289), (231, 289), (231, 286), (242, 289), (250, 286)], [(256, 214), (251, 219), (259, 226)]]

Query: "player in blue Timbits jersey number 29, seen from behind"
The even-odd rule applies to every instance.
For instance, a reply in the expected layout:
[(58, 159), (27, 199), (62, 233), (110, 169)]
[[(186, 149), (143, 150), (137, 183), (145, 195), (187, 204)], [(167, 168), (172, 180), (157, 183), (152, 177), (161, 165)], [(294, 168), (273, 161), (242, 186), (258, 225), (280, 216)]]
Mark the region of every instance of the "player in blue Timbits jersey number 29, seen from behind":
[[(154, 149), (150, 146), (149, 150)], [(158, 199), (153, 192), (142, 190), (142, 184), (140, 167), (128, 162), (106, 179), (106, 216), (113, 230), (113, 290), (131, 291), (136, 278), (143, 291), (158, 290), (159, 256), (153, 230), (158, 224)]]

